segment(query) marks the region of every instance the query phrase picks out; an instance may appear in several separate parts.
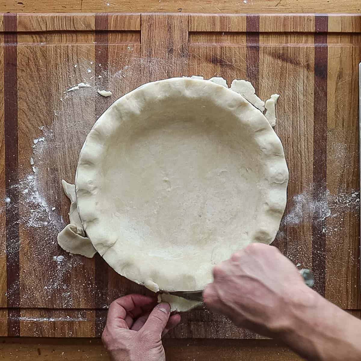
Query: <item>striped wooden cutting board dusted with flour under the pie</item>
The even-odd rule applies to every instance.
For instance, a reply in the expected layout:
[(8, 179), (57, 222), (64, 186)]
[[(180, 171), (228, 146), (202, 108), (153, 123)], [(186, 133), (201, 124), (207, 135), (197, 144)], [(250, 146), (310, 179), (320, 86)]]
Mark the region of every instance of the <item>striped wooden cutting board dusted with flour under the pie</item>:
[[(99, 336), (113, 299), (147, 292), (101, 257), (58, 247), (69, 206), (60, 180), (73, 182), (83, 141), (114, 100), (193, 74), (281, 95), (275, 131), (290, 183), (274, 245), (313, 270), (327, 299), (361, 309), (361, 16), (4, 14), (0, 31), (0, 335)], [(66, 92), (81, 82), (91, 87)], [(196, 309), (171, 337), (259, 336)]]

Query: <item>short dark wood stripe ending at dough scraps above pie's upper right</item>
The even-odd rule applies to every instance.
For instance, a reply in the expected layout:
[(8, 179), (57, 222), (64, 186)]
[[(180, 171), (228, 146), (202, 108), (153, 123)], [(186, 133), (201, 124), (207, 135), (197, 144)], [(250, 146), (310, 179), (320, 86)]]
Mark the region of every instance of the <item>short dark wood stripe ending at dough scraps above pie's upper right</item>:
[(256, 89), (259, 90), (259, 70), (260, 70), (260, 16), (246, 16), (246, 62), (247, 79)]

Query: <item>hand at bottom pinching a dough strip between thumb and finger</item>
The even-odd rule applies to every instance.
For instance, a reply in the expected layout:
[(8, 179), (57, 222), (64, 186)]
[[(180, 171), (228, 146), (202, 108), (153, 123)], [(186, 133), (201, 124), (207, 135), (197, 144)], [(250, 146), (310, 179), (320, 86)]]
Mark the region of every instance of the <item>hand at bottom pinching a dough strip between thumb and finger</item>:
[(168, 303), (132, 294), (109, 307), (103, 344), (112, 361), (165, 361), (161, 338), (181, 321)]

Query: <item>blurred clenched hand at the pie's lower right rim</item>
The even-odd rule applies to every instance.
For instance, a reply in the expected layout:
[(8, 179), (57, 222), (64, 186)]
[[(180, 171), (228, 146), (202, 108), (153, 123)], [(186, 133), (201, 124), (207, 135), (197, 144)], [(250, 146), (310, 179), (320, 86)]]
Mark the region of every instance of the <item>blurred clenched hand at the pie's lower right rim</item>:
[(252, 243), (213, 269), (214, 282), (203, 292), (205, 304), (235, 325), (270, 337), (290, 330), (303, 308), (314, 303), (310, 290), (277, 248)]

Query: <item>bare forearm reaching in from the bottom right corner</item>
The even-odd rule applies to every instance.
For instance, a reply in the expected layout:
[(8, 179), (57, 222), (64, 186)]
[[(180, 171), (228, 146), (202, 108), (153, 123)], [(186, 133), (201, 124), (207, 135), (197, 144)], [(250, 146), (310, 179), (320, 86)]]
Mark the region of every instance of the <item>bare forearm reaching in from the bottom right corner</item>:
[(361, 321), (314, 291), (306, 296), (281, 339), (307, 360), (361, 360)]

